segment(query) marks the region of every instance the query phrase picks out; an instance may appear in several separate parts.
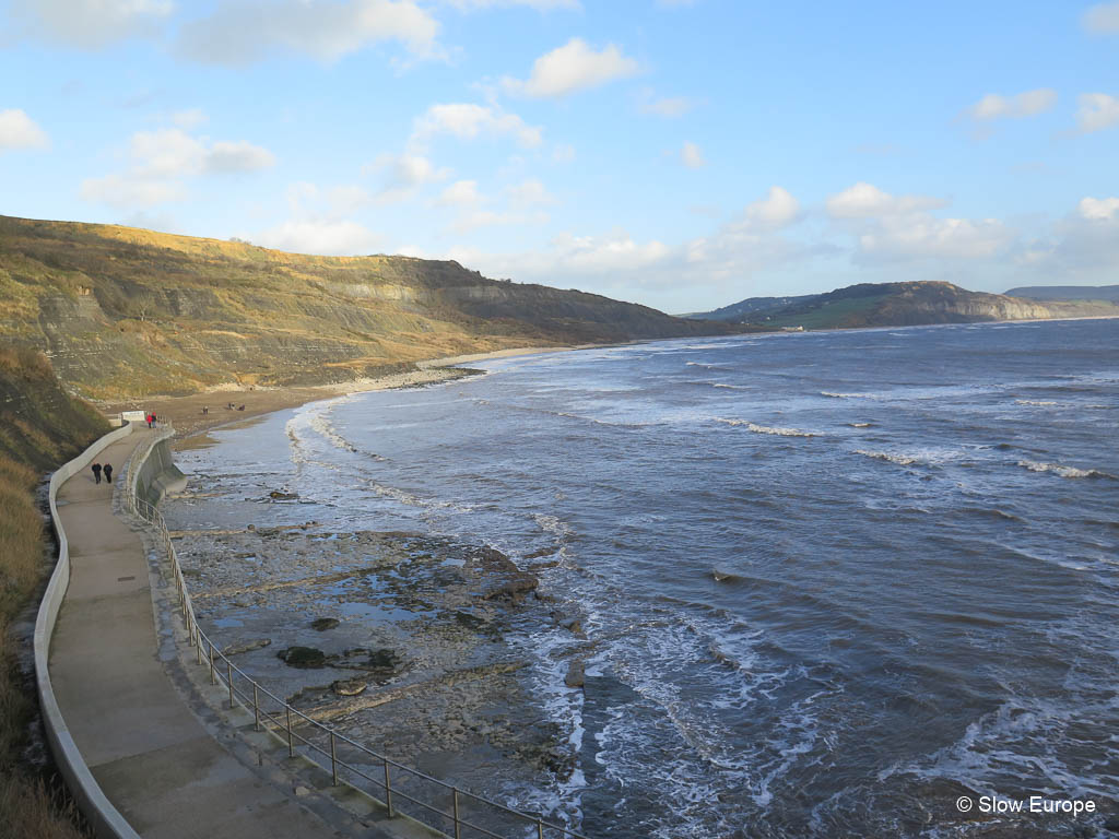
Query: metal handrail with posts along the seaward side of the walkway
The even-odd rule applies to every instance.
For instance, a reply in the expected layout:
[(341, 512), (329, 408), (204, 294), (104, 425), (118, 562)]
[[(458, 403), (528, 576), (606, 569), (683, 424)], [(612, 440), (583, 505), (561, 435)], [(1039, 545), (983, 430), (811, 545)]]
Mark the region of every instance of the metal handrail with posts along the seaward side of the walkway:
[[(357, 741), (338, 733), (332, 727), (319, 723), (303, 711), (299, 710), (299, 708), (292, 707), (289, 703), (278, 697), (234, 664), (233, 661), (229, 660), (228, 656), (222, 652), (220, 649), (214, 643), (214, 639), (207, 635), (203, 631), (201, 626), (198, 625), (198, 620), (195, 616), (194, 604), (190, 600), (190, 592), (187, 590), (186, 578), (182, 575), (182, 567), (179, 565), (179, 557), (175, 550), (175, 545), (171, 541), (171, 536), (168, 532), (163, 515), (154, 505), (143, 498), (140, 498), (137, 492), (137, 483), (139, 482), (139, 470), (135, 468), (137, 464), (142, 464), (151, 454), (151, 450), (154, 449), (158, 443), (168, 440), (173, 434), (175, 428), (167, 425), (160, 431), (159, 434), (148, 441), (143, 447), (138, 449), (137, 452), (133, 453), (129, 463), (129, 475), (125, 484), (124, 500), (132, 515), (143, 519), (151, 526), (160, 544), (162, 544), (163, 549), (167, 552), (167, 556), (170, 560), (171, 569), (175, 575), (179, 610), (182, 613), (182, 620), (189, 643), (195, 648), (196, 663), (198, 666), (205, 664), (209, 668), (211, 685), (224, 685), (225, 689), (228, 690), (231, 708), (235, 707), (235, 705), (241, 705), (245, 710), (251, 710), (253, 713), (254, 727), (256, 730), (262, 730), (263, 728), (263, 730), (267, 730), (279, 739), (286, 741), (288, 754), (290, 757), (295, 756), (295, 741), (298, 739), (302, 746), (305, 746), (305, 750), (302, 752), (303, 756), (316, 763), (323, 771), (330, 772), (333, 785), (338, 785), (340, 777), (339, 772), (342, 770), (349, 773), (350, 779), (359, 777), (367, 781), (375, 790), (384, 793), (383, 803), (388, 810), (389, 818), (394, 818), (397, 812), (401, 812), (399, 808), (395, 805), (395, 801), (397, 799), (403, 799), (436, 814), (442, 819), (448, 820), (453, 828), (454, 839), (462, 839), (463, 828), (476, 831), (477, 833), (486, 837), (490, 837), (490, 839), (507, 839), (507, 837), (501, 833), (491, 832), (489, 829), (474, 824), (463, 818), (460, 813), (460, 801), (462, 799), (467, 799), (519, 820), (521, 830), (525, 828), (529, 830), (535, 829), (536, 839), (545, 839), (548, 835), (558, 836), (561, 839), (565, 839), (566, 837), (571, 837), (572, 839), (587, 839), (587, 837), (583, 833), (568, 830), (560, 824), (544, 821), (542, 817), (534, 817), (528, 813), (514, 810), (482, 795), (476, 795), (472, 792), (459, 789), (454, 784), (440, 781), (436, 777), (432, 777), (431, 775), (424, 774), (423, 772), (414, 770), (411, 766), (406, 766), (403, 763), (398, 763), (397, 761), (386, 757), (385, 755), (373, 751)], [(219, 666), (219, 662), (222, 662), (223, 666)], [(238, 688), (235, 685), (235, 673), (242, 678), (244, 688)], [(273, 710), (270, 711), (262, 707), (262, 695), (275, 703), (276, 707)], [(283, 717), (282, 720), (280, 719), (281, 716)], [(308, 732), (307, 735), (298, 732), (295, 726), (292, 724), (292, 717), (295, 717), (301, 723), (307, 724), (311, 728), (311, 732)], [(262, 719), (266, 720), (266, 724), (263, 726)], [(270, 727), (270, 725), (272, 727)], [(322, 735), (319, 743), (311, 741), (310, 735), (312, 733), (319, 733)], [(360, 755), (372, 758), (372, 764), (379, 764), (384, 780), (374, 779), (366, 774), (361, 767), (340, 760), (338, 756), (339, 744), (345, 744), (352, 750), (356, 750)], [(312, 757), (311, 755), (316, 753), (321, 755), (325, 760), (319, 761)], [(368, 762), (366, 763), (366, 765), (372, 764)], [(407, 794), (401, 789), (399, 781), (396, 781), (397, 785), (394, 786), (394, 770), (396, 771), (395, 774), (397, 776), (401, 776), (401, 773), (406, 773), (406, 777), (408, 779), (435, 784), (436, 786), (449, 792), (451, 804), (450, 812)], [(359, 790), (361, 789), (352, 780), (347, 780), (347, 783), (350, 783)], [(368, 791), (363, 790), (363, 792)], [(372, 795), (372, 793), (368, 794)], [(408, 813), (404, 814), (408, 816)], [(413, 816), (412, 818), (416, 817)], [(438, 830), (438, 828), (435, 829)], [(441, 830), (440, 832), (443, 833)], [(446, 833), (443, 835), (446, 836)], [(519, 836), (524, 837), (525, 833), (520, 832)]]

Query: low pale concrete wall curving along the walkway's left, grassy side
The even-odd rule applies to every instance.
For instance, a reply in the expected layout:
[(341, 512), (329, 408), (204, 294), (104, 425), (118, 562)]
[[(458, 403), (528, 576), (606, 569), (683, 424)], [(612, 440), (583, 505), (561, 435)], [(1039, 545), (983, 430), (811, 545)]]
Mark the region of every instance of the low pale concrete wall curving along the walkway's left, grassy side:
[(62, 519), (58, 517), (58, 489), (75, 474), (85, 471), (85, 468), (93, 462), (102, 451), (107, 449), (119, 440), (129, 436), (133, 431), (131, 423), (125, 424), (116, 431), (105, 434), (77, 455), (74, 460), (64, 463), (50, 477), (50, 488), (48, 499), (50, 503), (50, 520), (54, 524), (55, 532), (58, 535), (58, 562), (55, 571), (50, 575), (47, 591), (43, 595), (39, 605), (39, 613), (35, 619), (35, 681), (39, 694), (39, 707), (43, 713), (43, 725), (47, 732), (47, 742), (50, 744), (50, 752), (54, 754), (58, 772), (66, 781), (70, 794), (77, 802), (78, 809), (85, 816), (94, 830), (94, 833), (102, 839), (140, 839), (140, 835), (132, 829), (132, 826), (121, 816), (120, 811), (113, 807), (105, 795), (101, 785), (94, 779), (93, 773), (86, 765), (82, 753), (74, 743), (66, 719), (63, 717), (55, 698), (54, 687), (50, 684), (50, 670), (48, 669), (50, 656), (50, 639), (54, 635), (55, 623), (58, 620), (58, 610), (62, 607), (63, 598), (69, 586), (70, 564), (69, 543), (66, 531), (63, 529)]

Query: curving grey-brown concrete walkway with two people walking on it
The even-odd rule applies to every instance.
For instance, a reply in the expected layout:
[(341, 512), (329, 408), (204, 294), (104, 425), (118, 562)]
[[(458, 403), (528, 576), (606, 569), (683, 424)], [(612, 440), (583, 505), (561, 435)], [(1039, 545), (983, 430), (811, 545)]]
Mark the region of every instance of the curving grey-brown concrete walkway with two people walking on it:
[[(144, 428), (101, 455), (123, 481)], [(72, 576), (50, 645), (50, 678), (74, 741), (109, 800), (145, 839), (339, 837), (214, 739), (158, 656), (148, 560), (115, 518), (112, 490), (86, 471), (58, 512)]]

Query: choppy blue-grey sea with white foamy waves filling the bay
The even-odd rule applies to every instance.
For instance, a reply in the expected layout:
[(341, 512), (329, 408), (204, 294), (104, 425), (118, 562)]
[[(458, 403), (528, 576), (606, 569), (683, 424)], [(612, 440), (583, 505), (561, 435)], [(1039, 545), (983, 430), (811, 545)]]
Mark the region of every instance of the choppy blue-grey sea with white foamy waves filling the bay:
[[(298, 492), (273, 524), (449, 535), (523, 565), (558, 548), (542, 590), (586, 639), (510, 643), (577, 770), (511, 803), (634, 838), (1070, 836), (1116, 812), (1119, 321), (482, 367), (179, 460), (219, 496)], [(585, 692), (563, 684), (572, 651)], [(1102, 814), (955, 803), (1032, 794)]]

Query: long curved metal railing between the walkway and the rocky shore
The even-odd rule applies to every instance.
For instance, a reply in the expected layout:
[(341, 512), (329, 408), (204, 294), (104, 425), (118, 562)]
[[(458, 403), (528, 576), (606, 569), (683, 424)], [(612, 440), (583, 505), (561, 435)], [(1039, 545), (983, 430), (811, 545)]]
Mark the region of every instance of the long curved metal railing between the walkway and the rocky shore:
[[(129, 465), (124, 500), (131, 513), (151, 525), (167, 552), (175, 575), (179, 610), (182, 613), (190, 647), (195, 649), (195, 662), (199, 667), (209, 669), (211, 685), (224, 685), (228, 691), (231, 709), (241, 705), (245, 710), (252, 711), (254, 728), (266, 730), (286, 742), (289, 757), (300, 754), (314, 762), (330, 773), (333, 785), (347, 783), (370, 795), (385, 807), (389, 818), (406, 816), (444, 836), (453, 836), (454, 839), (463, 839), (464, 836), (482, 836), (489, 839), (509, 839), (513, 836), (535, 837), (535, 839), (547, 839), (547, 837), (587, 839), (583, 833), (547, 822), (540, 817), (514, 810), (482, 795), (476, 795), (378, 754), (293, 708), (234, 664), (215, 644), (214, 639), (198, 625), (182, 567), (179, 565), (179, 557), (162, 513), (137, 493), (138, 464), (148, 459), (158, 443), (173, 434), (175, 430), (166, 425), (160, 434), (137, 449)], [(440, 807), (430, 803), (432, 796), (429, 796), (429, 801), (421, 799), (420, 795), (425, 789), (429, 792), (432, 789), (438, 790), (446, 803)], [(407, 802), (407, 805), (402, 808), (401, 801)], [(415, 808), (419, 808), (419, 811)], [(476, 823), (482, 819), (490, 827), (514, 832), (495, 832), (489, 827)], [(450, 828), (450, 831), (444, 830), (444, 827)]]

